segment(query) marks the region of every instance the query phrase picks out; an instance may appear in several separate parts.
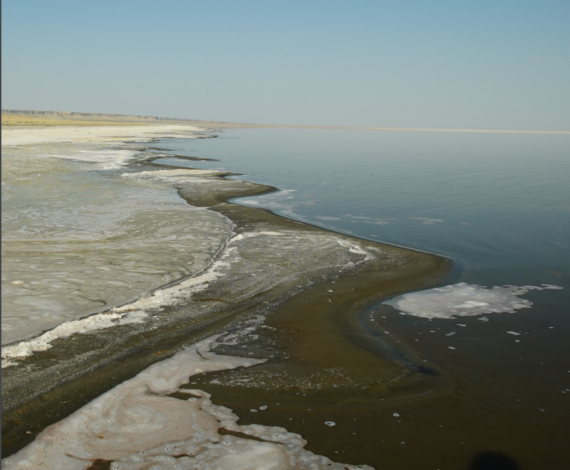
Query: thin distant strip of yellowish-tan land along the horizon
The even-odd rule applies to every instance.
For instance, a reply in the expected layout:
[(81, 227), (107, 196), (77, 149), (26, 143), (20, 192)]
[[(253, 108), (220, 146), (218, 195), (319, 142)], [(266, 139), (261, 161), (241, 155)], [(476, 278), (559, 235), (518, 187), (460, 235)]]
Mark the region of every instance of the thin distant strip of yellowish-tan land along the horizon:
[(530, 133), (570, 135), (570, 131), (533, 131), (509, 129), (432, 129), (427, 127), (357, 127), (319, 125), (255, 124), (249, 122), (222, 122), (199, 119), (165, 118), (160, 116), (134, 116), (128, 114), (83, 113), (75, 111), (37, 111), (28, 109), (2, 109), (3, 126), (65, 126), (65, 125), (145, 125), (187, 124), (217, 129), (332, 129), (363, 131), (420, 131), (467, 133)]

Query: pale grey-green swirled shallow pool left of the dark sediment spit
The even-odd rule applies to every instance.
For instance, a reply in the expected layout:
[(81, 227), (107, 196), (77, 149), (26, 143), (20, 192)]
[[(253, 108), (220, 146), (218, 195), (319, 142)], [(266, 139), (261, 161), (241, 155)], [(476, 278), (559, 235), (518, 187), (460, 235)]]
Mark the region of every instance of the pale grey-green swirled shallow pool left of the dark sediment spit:
[(91, 171), (133, 151), (62, 147), (96, 163), (2, 149), (3, 344), (194, 275), (231, 233), (173, 189)]

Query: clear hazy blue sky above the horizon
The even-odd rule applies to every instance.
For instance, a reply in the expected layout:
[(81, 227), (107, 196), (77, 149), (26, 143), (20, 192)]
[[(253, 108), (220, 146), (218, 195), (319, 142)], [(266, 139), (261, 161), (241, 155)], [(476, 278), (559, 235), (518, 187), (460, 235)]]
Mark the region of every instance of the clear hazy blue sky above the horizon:
[(570, 1), (2, 1), (2, 107), (570, 130)]

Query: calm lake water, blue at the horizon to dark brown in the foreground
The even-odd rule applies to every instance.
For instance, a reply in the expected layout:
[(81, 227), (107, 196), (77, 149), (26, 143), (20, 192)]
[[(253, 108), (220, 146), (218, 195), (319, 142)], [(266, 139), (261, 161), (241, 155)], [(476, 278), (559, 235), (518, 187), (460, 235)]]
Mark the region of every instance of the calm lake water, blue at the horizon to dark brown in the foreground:
[(430, 321), (386, 305), (363, 312), (370, 331), (397, 335), (439, 365), (454, 392), (399, 403), (386, 411), (402, 416), (394, 422), (370, 414), (354, 434), (379, 437), (362, 447), (344, 445), (346, 436), (309, 438), (313, 451), (341, 449), (340, 461), (393, 469), (467, 468), (483, 451), (506, 453), (522, 469), (567, 463), (570, 136), (239, 129), (157, 146), (169, 149), (156, 151), (169, 156), (161, 164), (226, 169), (278, 189), (238, 204), (452, 257), (447, 284), (563, 288), (531, 290), (531, 308), (484, 321)]

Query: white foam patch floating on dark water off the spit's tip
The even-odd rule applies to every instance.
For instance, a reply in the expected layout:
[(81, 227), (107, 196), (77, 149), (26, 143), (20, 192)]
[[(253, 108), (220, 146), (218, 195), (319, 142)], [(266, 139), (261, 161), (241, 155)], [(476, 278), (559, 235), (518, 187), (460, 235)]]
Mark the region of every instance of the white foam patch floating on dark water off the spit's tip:
[(542, 287), (494, 286), (486, 288), (461, 282), (440, 288), (410, 292), (383, 303), (401, 310), (402, 314), (414, 315), (414, 317), (451, 319), (455, 316), (472, 317), (487, 313), (515, 313), (520, 308), (530, 308), (532, 305), (531, 301), (520, 299), (520, 295), (527, 294), (529, 290), (545, 289), (562, 289), (562, 287), (542, 284)]

